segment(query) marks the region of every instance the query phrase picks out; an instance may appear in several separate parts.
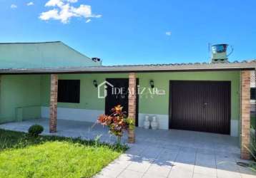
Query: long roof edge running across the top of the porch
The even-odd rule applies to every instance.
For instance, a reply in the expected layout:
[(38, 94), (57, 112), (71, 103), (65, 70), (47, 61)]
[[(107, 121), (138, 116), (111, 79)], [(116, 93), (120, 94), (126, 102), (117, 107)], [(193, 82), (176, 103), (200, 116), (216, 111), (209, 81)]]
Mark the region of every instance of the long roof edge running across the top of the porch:
[(159, 72), (184, 70), (255, 70), (256, 63), (215, 63), (163, 66), (92, 66), (84, 68), (19, 68), (0, 69), (0, 73), (116, 73), (116, 72)]

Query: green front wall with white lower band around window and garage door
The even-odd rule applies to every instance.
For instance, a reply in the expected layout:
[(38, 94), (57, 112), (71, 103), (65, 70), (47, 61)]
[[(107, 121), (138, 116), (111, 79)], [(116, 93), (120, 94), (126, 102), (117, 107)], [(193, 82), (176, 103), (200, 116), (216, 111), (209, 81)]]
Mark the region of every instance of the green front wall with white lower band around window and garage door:
[[(72, 74), (59, 75), (59, 79), (81, 80), (80, 103), (58, 103), (58, 118), (95, 122), (104, 113), (105, 100), (97, 98), (97, 88), (93, 80), (102, 83), (106, 78), (128, 78), (128, 73), (118, 74)], [(169, 80), (225, 80), (231, 81), (231, 135), (239, 135), (240, 120), (240, 71), (215, 72), (174, 72), (137, 73), (140, 88), (149, 88), (149, 80), (154, 80), (155, 88), (165, 91), (165, 95), (139, 95), (139, 127), (145, 115), (157, 115), (159, 128), (168, 129), (169, 123)], [(49, 75), (41, 76), (41, 116), (49, 117)]]

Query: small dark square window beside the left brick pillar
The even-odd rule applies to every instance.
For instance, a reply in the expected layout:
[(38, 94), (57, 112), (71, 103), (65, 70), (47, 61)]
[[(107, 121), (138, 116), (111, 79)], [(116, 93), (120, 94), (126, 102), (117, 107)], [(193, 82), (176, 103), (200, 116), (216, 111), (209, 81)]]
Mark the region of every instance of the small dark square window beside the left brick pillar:
[(80, 80), (59, 80), (58, 102), (80, 103)]

